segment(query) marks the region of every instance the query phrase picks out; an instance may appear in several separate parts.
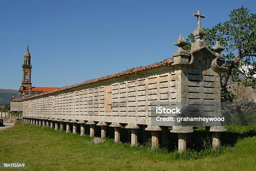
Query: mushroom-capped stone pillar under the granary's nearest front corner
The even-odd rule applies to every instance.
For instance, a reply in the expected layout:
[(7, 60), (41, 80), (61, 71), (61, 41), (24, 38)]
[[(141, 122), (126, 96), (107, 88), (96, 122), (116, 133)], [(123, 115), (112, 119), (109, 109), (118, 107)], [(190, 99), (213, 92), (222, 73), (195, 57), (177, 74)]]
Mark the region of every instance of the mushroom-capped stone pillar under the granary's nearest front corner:
[(179, 153), (184, 152), (187, 148), (187, 133), (192, 133), (193, 127), (173, 126), (170, 132), (178, 133), (178, 151)]

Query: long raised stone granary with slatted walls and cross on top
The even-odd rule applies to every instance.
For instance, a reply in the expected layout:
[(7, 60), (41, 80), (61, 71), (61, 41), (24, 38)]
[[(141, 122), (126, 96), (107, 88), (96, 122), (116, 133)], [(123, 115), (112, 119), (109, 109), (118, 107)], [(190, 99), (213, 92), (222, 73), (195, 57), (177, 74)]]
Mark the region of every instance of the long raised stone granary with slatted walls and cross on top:
[[(178, 134), (178, 149), (184, 151), (187, 133), (193, 132), (192, 126), (156, 122), (154, 102), (189, 105), (207, 101), (218, 104), (220, 70), (225, 68), (225, 59), (220, 55), (223, 48), (218, 41), (213, 53), (202, 40), (205, 31), (200, 27), (200, 18), (204, 15), (200, 11), (193, 15), (198, 20), (194, 30), (197, 41), (192, 43), (189, 52), (182, 48), (187, 42), (180, 35), (174, 43), (178, 49), (173, 58), (23, 98), (23, 121), (51, 128), (55, 123), (56, 130), (66, 128), (67, 133), (71, 126), (73, 133), (77, 133), (80, 124), (81, 136), (85, 125), (89, 125), (91, 137), (95, 135), (95, 127), (99, 126), (102, 138), (105, 138), (109, 126), (115, 130), (115, 143), (120, 143), (120, 127), (125, 127), (131, 130), (132, 146), (137, 145), (137, 130), (143, 128), (151, 131), (152, 148), (159, 146), (159, 134), (163, 141), (166, 131), (172, 127), (171, 132)], [(202, 113), (207, 117), (219, 116), (220, 106), (203, 106)], [(220, 145), (219, 134), (225, 131), (218, 124), (195, 125), (206, 126), (214, 132), (213, 148)]]

